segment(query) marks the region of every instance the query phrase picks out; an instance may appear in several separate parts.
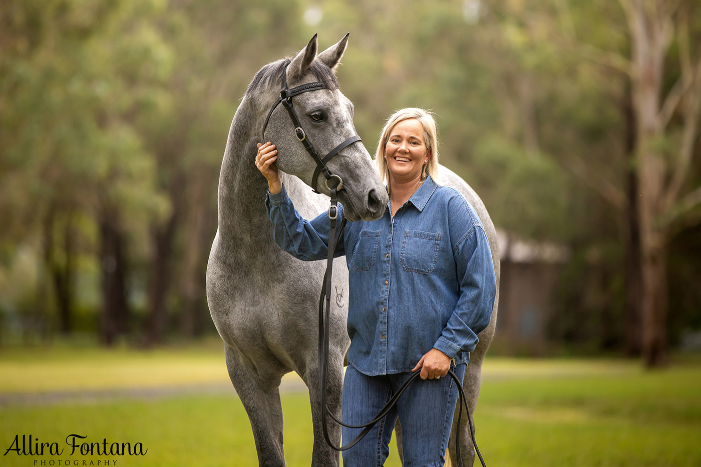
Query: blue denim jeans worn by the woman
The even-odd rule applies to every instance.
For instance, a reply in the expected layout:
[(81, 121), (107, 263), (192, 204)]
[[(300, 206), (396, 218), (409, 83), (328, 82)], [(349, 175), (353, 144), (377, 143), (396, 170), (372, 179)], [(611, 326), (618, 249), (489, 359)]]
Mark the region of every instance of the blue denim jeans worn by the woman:
[[(456, 368), (451, 365), (461, 381), (466, 368), (465, 363)], [(359, 425), (371, 420), (411, 375), (367, 376), (348, 365), (343, 379), (343, 422)], [(343, 451), (343, 467), (383, 466), (397, 417), (402, 423), (404, 467), (442, 467), (457, 400), (458, 388), (451, 377), (418, 377), (362, 441)], [(360, 431), (360, 428), (344, 426), (343, 444), (353, 440)]]

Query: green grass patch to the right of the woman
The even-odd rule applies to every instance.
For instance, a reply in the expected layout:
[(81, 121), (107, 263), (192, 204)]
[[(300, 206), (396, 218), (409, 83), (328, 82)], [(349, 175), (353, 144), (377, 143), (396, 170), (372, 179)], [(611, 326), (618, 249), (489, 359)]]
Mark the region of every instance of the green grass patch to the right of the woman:
[(701, 466), (701, 367), (488, 381), (475, 423), (496, 466)]

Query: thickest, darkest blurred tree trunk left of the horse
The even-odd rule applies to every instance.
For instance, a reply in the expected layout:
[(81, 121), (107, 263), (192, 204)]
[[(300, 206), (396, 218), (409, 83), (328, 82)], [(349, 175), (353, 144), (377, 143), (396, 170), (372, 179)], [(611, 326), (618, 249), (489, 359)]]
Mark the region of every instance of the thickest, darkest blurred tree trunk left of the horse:
[(114, 344), (129, 330), (129, 307), (125, 283), (124, 239), (114, 209), (102, 209), (100, 215), (100, 264), (102, 265), (102, 316), (100, 337), (104, 344)]

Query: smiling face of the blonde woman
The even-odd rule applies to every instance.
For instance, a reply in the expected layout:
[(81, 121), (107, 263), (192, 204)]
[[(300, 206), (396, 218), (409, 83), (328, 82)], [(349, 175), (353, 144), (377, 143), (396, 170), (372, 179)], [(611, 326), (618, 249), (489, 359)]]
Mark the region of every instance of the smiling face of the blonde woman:
[(392, 179), (410, 181), (421, 176), (430, 158), (423, 139), (423, 125), (416, 118), (402, 120), (392, 127), (385, 146), (387, 169)]

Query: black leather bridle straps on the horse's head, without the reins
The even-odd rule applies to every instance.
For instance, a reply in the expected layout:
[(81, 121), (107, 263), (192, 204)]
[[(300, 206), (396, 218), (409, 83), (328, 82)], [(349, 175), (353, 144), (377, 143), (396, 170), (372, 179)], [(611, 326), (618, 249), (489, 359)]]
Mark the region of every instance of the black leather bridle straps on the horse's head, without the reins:
[[(346, 141), (343, 141), (341, 144), (333, 148), (331, 151), (329, 151), (329, 153), (325, 155), (324, 158), (321, 158), (316, 152), (313, 144), (311, 144), (311, 141), (309, 141), (309, 138), (307, 137), (306, 133), (304, 132), (302, 124), (299, 122), (299, 118), (297, 118), (297, 113), (294, 111), (294, 105), (292, 104), (292, 97), (299, 95), (302, 92), (318, 91), (329, 88), (327, 88), (324, 85), (324, 83), (307, 83), (301, 86), (297, 86), (297, 88), (287, 89), (287, 66), (283, 71), (283, 87), (282, 90), (280, 90), (280, 97), (278, 97), (277, 102), (273, 104), (273, 107), (270, 109), (270, 112), (268, 112), (268, 118), (266, 118), (265, 125), (263, 125), (263, 139), (265, 139), (265, 130), (266, 127), (268, 127), (268, 121), (273, 115), (273, 111), (278, 106), (278, 104), (282, 102), (283, 107), (287, 109), (287, 113), (289, 113), (290, 118), (292, 118), (292, 123), (294, 123), (294, 135), (297, 137), (297, 139), (299, 139), (299, 141), (301, 141), (301, 144), (304, 145), (306, 151), (309, 153), (309, 155), (311, 155), (311, 158), (314, 160), (314, 162), (316, 162), (314, 176), (311, 179), (311, 188), (314, 190), (314, 193), (320, 193), (317, 190), (317, 180), (319, 178), (320, 173), (324, 174), (324, 177), (326, 178), (326, 188), (329, 188), (329, 190), (332, 190), (332, 188), (335, 188), (335, 190), (341, 190), (341, 188), (343, 188), (343, 179), (341, 179), (341, 177), (336, 174), (332, 174), (329, 171), (329, 168), (326, 167), (326, 163), (329, 162), (329, 160), (331, 160), (331, 158), (333, 158), (334, 155), (338, 154), (341, 151), (341, 149), (355, 143), (356, 141), (362, 141), (362, 139), (360, 139), (360, 137), (357, 134), (355, 134), (352, 137), (346, 139)], [(332, 181), (332, 186), (329, 186), (329, 181)]]

